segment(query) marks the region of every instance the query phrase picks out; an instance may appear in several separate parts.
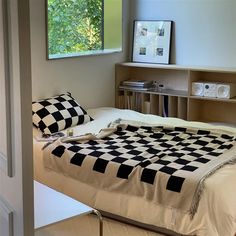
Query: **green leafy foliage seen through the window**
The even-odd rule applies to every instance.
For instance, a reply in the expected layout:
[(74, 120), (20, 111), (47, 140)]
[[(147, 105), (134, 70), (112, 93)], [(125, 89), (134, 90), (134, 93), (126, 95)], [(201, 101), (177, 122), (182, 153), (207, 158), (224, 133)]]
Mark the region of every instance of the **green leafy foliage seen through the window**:
[(48, 53), (103, 49), (103, 0), (48, 0)]

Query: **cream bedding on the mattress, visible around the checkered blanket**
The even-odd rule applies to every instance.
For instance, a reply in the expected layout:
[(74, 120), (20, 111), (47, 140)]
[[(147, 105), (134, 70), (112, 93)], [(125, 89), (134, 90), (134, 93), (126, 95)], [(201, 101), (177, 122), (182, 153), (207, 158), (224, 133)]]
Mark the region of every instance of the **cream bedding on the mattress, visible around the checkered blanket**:
[[(100, 129), (117, 119), (136, 120), (153, 125), (201, 129), (213, 129), (215, 127), (206, 123), (187, 122), (177, 118), (162, 118), (115, 108), (90, 109), (88, 113), (94, 118), (94, 121), (74, 127), (74, 133), (81, 135), (98, 133)], [(236, 129), (232, 127), (217, 126), (217, 129), (222, 130), (222, 132), (236, 133)], [(34, 136), (37, 135), (39, 134), (35, 131)], [(170, 232), (182, 235), (234, 236), (236, 232), (236, 191), (232, 190), (236, 181), (236, 165), (226, 165), (206, 179), (205, 190), (198, 210), (191, 220), (189, 214), (175, 208), (148, 202), (137, 196), (97, 189), (63, 173), (46, 169), (41, 150), (43, 145), (43, 142), (34, 140), (35, 179), (92, 207), (133, 222), (165, 228)]]

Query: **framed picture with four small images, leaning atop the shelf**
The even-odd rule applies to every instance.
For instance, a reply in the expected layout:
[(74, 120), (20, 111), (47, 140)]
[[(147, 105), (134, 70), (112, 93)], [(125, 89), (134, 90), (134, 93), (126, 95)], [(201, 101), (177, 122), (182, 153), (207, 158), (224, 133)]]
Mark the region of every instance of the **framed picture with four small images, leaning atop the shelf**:
[(134, 21), (133, 62), (169, 64), (172, 21)]

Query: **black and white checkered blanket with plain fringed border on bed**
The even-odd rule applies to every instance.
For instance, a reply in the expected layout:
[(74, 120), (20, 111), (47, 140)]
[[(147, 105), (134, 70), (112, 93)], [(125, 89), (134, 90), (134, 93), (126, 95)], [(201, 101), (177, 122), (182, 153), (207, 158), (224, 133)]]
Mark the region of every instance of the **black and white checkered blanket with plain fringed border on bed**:
[(215, 130), (114, 122), (98, 135), (57, 140), (44, 150), (44, 161), (97, 188), (193, 216), (204, 179), (235, 163), (235, 140), (234, 134)]

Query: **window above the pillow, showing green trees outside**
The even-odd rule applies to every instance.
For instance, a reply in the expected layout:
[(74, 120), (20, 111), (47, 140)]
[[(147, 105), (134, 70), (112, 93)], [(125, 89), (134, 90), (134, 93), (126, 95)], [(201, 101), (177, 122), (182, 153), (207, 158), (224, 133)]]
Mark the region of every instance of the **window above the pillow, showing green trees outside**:
[(48, 59), (121, 51), (122, 0), (47, 0)]

